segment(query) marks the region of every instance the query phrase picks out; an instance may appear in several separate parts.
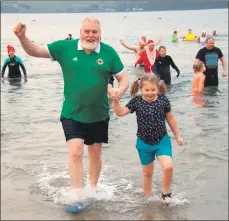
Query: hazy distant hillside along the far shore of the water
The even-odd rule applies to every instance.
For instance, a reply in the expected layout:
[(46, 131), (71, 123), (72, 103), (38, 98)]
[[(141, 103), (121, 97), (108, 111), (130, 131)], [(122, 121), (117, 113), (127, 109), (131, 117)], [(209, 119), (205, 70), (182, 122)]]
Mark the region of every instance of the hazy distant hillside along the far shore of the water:
[(82, 13), (228, 8), (228, 0), (1, 1), (1, 13)]

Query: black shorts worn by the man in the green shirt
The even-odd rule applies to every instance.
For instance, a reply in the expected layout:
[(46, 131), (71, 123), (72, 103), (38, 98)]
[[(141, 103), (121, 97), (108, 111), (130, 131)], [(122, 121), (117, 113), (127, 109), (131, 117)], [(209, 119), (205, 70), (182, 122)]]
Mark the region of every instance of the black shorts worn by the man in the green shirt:
[(60, 118), (66, 142), (74, 138), (84, 140), (84, 144), (108, 143), (109, 118), (96, 123), (80, 123), (78, 121)]

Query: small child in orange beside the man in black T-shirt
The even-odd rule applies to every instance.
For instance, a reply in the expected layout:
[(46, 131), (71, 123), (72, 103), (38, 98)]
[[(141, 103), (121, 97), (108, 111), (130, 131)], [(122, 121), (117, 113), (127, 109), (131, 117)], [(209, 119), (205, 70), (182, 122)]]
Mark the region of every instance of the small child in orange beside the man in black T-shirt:
[(193, 65), (195, 72), (193, 83), (192, 83), (192, 94), (198, 96), (204, 92), (204, 81), (205, 75), (203, 74), (206, 70), (205, 65), (202, 61), (198, 61)]

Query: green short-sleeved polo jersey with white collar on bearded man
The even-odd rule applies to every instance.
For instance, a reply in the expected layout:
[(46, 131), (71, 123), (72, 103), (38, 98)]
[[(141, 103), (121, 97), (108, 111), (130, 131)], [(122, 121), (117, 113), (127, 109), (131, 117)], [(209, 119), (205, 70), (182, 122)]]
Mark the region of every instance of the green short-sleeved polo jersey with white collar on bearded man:
[(63, 72), (64, 102), (61, 116), (82, 123), (94, 123), (109, 117), (107, 86), (109, 77), (123, 71), (116, 51), (99, 43), (87, 54), (79, 39), (60, 40), (47, 45)]

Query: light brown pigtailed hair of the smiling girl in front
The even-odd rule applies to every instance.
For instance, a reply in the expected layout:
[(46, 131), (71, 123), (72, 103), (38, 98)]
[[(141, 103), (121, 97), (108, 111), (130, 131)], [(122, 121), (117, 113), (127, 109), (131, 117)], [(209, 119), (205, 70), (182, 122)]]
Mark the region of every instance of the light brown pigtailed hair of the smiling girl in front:
[(167, 91), (166, 84), (163, 80), (160, 80), (157, 75), (153, 73), (145, 73), (140, 78), (136, 79), (130, 89), (130, 95), (134, 97), (137, 93), (139, 88), (142, 88), (143, 82), (148, 81), (153, 84), (156, 84), (158, 87), (159, 94), (165, 95)]

